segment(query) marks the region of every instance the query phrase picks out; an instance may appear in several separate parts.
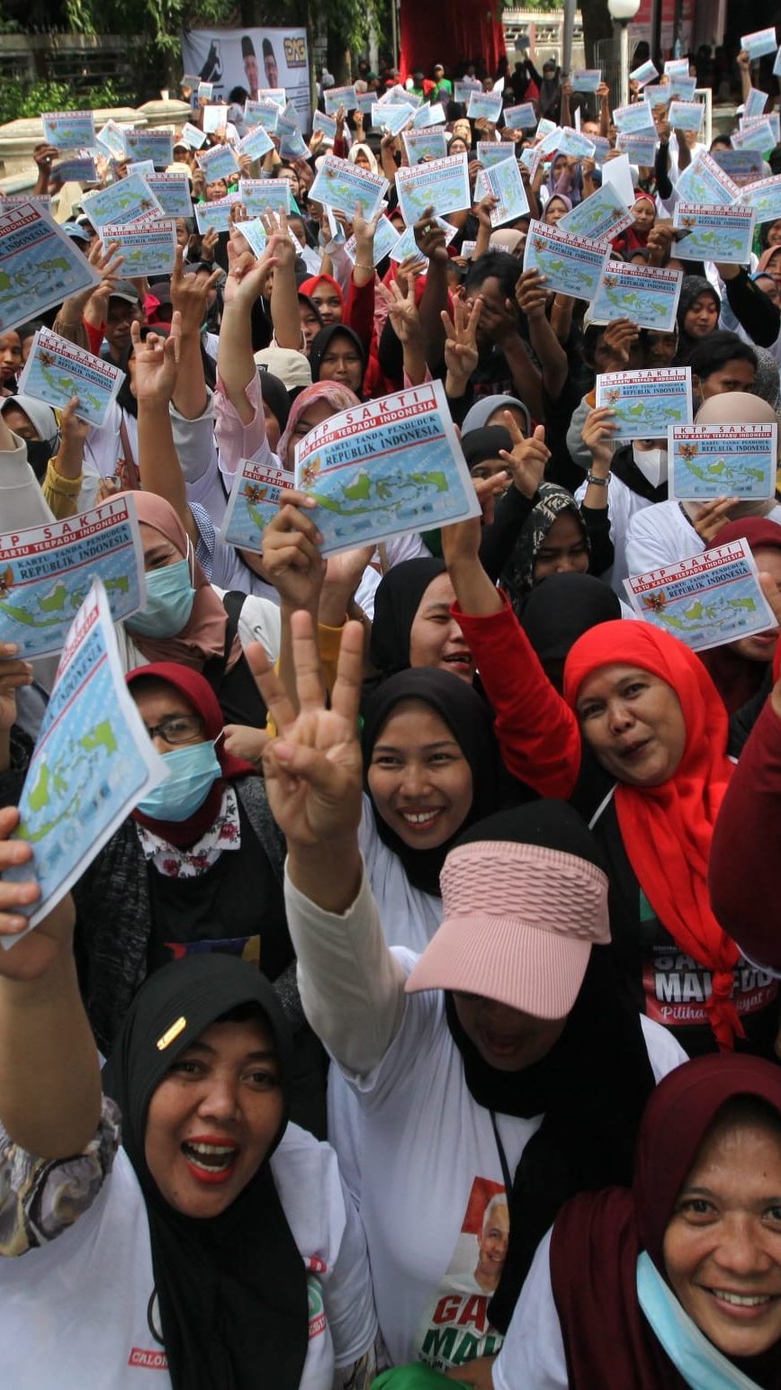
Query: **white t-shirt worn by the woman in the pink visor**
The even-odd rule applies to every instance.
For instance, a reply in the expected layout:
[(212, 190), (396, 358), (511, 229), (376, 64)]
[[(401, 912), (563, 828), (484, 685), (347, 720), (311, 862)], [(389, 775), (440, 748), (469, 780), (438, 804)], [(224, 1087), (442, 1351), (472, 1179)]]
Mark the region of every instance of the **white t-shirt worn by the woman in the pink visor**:
[[(393, 955), (406, 973), (417, 959), (402, 948)], [(660, 1080), (687, 1056), (666, 1029), (641, 1022)], [(392, 1362), (443, 1371), (496, 1352), (502, 1336), (486, 1308), (499, 1280), (488, 1286), (478, 1266), (484, 1218), (493, 1198), (500, 1205), (504, 1179), (491, 1113), (470, 1095), (442, 991), (407, 995), (379, 1066), (347, 1080), (359, 1106), (342, 1108), (334, 1095), (331, 1141), (360, 1163), (361, 1220)], [(514, 1172), (542, 1116), (499, 1115), (496, 1123)]]

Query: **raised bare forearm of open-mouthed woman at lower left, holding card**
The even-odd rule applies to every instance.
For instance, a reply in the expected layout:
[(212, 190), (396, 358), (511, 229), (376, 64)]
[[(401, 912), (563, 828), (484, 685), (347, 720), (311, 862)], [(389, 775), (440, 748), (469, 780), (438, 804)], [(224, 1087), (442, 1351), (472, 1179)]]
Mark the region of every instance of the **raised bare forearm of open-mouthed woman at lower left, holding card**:
[[(0, 874), (29, 863), (32, 845), (10, 840), (18, 810), (0, 810)], [(25, 930), (19, 908), (40, 897), (35, 880), (0, 878), (0, 935)], [(100, 1119), (97, 1049), (81, 1001), (69, 894), (10, 951), (0, 949), (0, 1122), (38, 1158), (69, 1158)]]

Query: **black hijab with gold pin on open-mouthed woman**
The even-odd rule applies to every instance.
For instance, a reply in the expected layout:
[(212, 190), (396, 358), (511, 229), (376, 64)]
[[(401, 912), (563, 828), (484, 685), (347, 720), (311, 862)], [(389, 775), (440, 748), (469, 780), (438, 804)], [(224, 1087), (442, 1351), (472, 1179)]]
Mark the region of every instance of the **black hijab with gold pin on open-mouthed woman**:
[[(307, 1282), (268, 1159), (221, 1216), (183, 1216), (161, 1195), (145, 1155), (151, 1097), (171, 1065), (211, 1023), (257, 1005), (293, 1074), (292, 1040), (274, 990), (233, 956), (188, 956), (142, 986), (103, 1069), (122, 1112), (122, 1143), (140, 1183), (171, 1383), (175, 1390), (296, 1390), (309, 1343)], [(179, 1033), (178, 1024), (183, 1024)], [(171, 1042), (165, 1045), (165, 1037)]]

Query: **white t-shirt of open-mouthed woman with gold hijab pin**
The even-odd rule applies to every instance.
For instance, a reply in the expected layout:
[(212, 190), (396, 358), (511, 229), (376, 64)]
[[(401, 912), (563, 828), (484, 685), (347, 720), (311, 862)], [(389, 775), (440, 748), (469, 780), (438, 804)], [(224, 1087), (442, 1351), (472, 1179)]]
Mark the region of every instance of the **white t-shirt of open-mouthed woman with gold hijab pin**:
[[(307, 1266), (310, 1340), (300, 1390), (331, 1390), (335, 1368), (364, 1355), (377, 1332), (363, 1230), (328, 1144), (289, 1125), (271, 1170)], [(165, 1390), (156, 1311), (146, 1207), (120, 1150), (94, 1202), (68, 1230), (0, 1261), (3, 1384)]]

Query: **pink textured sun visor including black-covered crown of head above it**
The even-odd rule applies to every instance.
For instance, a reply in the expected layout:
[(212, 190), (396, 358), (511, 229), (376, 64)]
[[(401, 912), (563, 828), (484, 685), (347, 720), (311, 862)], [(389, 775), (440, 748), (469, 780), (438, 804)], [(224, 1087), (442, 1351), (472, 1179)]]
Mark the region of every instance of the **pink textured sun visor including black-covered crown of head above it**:
[(573, 1008), (610, 941), (607, 876), (585, 821), (542, 801), (478, 821), (441, 874), (442, 926), (406, 990), (457, 990), (538, 1019)]

